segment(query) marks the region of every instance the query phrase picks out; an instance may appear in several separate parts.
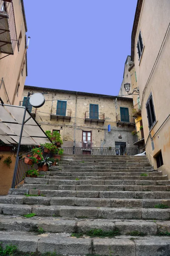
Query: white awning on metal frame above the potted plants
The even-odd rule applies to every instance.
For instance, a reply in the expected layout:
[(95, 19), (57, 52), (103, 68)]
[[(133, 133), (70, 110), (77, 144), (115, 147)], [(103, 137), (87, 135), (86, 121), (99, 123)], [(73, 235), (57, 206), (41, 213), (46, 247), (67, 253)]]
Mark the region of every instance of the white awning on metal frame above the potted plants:
[[(25, 107), (0, 104), (0, 140), (6, 144), (18, 144)], [(29, 119), (30, 118), (30, 119)], [(26, 122), (26, 120), (28, 121)], [(51, 143), (40, 125), (26, 111), (21, 145)]]

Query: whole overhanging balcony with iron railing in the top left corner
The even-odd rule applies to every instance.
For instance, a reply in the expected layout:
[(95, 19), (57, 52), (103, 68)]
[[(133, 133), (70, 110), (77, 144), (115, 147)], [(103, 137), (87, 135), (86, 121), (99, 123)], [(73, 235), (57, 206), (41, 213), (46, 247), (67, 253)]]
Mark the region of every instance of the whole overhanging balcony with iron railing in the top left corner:
[(0, 51), (7, 55), (14, 54), (17, 45), (17, 32), (14, 8), (11, 0), (0, 0)]

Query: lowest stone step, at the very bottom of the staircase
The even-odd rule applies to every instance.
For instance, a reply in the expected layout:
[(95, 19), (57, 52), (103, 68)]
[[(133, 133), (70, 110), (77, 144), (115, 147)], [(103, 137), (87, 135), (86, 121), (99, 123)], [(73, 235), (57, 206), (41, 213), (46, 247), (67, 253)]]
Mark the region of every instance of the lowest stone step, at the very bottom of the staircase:
[[(30, 232), (1, 231), (0, 242), (3, 249), (7, 244), (17, 245), (17, 250), (27, 253), (54, 253), (57, 255), (120, 255), (120, 256), (169, 256), (170, 239), (158, 236), (116, 236), (111, 239), (73, 238), (70, 234), (53, 233), (35, 235)], [(135, 239), (137, 238), (137, 239)], [(24, 246), (23, 246), (24, 245)], [(114, 254), (113, 254), (114, 252)], [(31, 255), (28, 254), (28, 255)], [(94, 254), (95, 253), (95, 254)], [(158, 254), (159, 253), (159, 254)]]

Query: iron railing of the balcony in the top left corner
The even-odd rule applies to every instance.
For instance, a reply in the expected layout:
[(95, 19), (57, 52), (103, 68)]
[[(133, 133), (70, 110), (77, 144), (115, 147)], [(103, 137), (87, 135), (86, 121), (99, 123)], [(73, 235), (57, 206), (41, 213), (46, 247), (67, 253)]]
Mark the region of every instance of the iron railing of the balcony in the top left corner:
[[(7, 13), (8, 14), (8, 25), (9, 31), (4, 30), (3, 32), (9, 32), (11, 37), (11, 45), (14, 52), (14, 49), (17, 45), (17, 31), (15, 25), (15, 17), (14, 17), (14, 7), (12, 2), (0, 0), (0, 14)], [(1, 17), (2, 18), (2, 17)], [(3, 29), (0, 29), (3, 30)], [(5, 45), (5, 44), (4, 44)], [(1, 45), (2, 47), (2, 45)]]

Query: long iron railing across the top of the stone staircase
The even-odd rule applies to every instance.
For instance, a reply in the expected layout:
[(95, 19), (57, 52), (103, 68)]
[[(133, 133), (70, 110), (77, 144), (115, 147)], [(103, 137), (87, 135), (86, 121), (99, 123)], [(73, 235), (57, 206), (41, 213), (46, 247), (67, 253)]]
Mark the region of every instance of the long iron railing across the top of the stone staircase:
[(87, 147), (62, 147), (64, 154), (92, 154), (92, 155), (127, 155), (139, 154), (138, 148), (87, 148)]

